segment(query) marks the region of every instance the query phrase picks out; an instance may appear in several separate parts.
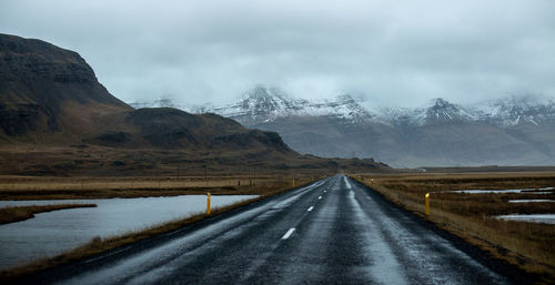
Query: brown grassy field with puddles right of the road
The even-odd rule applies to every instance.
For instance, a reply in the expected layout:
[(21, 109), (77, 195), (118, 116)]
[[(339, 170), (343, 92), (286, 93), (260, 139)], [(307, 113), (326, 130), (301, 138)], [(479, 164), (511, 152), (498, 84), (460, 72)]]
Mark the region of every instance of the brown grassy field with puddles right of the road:
[[(366, 186), (370, 175), (352, 175)], [(555, 213), (555, 203), (508, 203), (509, 200), (546, 199), (553, 194), (504, 193), (466, 194), (454, 190), (539, 189), (555, 186), (555, 174), (490, 175), (396, 175), (374, 177), (373, 189), (387, 200), (435, 223), (438, 227), (477, 245), (496, 258), (526, 272), (555, 277), (555, 225), (504, 221), (503, 214)], [(425, 194), (430, 193), (430, 215), (425, 215)]]

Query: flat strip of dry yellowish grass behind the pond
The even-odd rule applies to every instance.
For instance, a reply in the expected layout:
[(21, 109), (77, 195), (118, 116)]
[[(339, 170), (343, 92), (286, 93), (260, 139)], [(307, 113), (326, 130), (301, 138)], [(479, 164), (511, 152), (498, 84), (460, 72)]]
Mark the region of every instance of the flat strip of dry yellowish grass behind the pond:
[(0, 176), (0, 200), (110, 199), (205, 194), (265, 195), (317, 175), (37, 177)]

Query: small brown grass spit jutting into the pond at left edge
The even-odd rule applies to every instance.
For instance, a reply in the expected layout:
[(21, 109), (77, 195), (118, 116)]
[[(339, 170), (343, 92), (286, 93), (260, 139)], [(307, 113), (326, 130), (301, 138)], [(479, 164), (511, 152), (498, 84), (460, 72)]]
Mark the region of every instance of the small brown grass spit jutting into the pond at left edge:
[(64, 208), (95, 207), (95, 204), (59, 204), (59, 205), (30, 205), (7, 206), (0, 208), (0, 224), (21, 222), (34, 217), (34, 214), (52, 212)]

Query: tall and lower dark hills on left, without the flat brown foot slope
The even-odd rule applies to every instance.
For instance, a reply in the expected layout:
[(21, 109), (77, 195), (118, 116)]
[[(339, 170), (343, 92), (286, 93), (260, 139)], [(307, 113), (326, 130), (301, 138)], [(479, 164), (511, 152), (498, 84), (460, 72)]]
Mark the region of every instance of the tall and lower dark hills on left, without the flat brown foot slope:
[(75, 52), (40, 40), (0, 35), (0, 119), (4, 141), (129, 147), (255, 147), (292, 152), (271, 132), (215, 114), (134, 110), (110, 94)]

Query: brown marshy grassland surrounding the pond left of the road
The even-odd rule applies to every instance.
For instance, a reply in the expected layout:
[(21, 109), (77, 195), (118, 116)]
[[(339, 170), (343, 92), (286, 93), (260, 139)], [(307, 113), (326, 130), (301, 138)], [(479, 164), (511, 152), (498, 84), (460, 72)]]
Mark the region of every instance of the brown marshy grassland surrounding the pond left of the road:
[[(254, 201), (272, 196), (295, 186), (305, 185), (317, 175), (229, 175), (229, 176), (142, 176), (142, 177), (37, 177), (37, 176), (0, 176), (0, 201), (40, 201), (79, 200), (94, 201), (113, 197), (160, 197), (206, 194), (212, 195), (256, 195), (235, 204), (216, 207), (211, 215), (195, 214), (175, 218), (165, 223), (150, 225), (145, 228), (127, 232), (120, 235), (98, 237), (77, 248), (68, 248), (60, 255), (47, 257), (0, 273), (0, 279), (8, 276), (20, 276), (115, 247), (132, 244), (161, 233), (175, 231), (184, 225), (219, 215), (230, 210), (246, 205)], [(59, 201), (58, 201), (59, 202)], [(81, 203), (80, 202), (80, 203)], [(84, 202), (83, 202), (84, 203)], [(33, 213), (54, 211), (64, 207), (83, 206), (81, 204), (47, 204), (33, 206), (9, 206), (0, 208), (6, 218), (14, 222), (19, 218), (32, 217)], [(87, 204), (85, 206), (95, 206)], [(9, 215), (8, 215), (9, 214)], [(24, 215), (23, 215), (24, 214)], [(24, 217), (24, 218), (23, 218)], [(117, 218), (117, 217), (114, 217)]]

